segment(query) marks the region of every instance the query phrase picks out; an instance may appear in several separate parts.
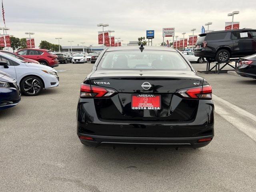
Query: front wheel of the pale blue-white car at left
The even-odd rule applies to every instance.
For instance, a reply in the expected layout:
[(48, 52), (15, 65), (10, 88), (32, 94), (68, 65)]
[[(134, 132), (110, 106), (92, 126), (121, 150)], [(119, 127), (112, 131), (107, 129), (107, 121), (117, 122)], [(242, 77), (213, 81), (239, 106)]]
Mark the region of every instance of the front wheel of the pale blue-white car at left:
[(26, 96), (36, 96), (43, 88), (42, 80), (36, 76), (27, 76), (20, 82), (20, 91)]

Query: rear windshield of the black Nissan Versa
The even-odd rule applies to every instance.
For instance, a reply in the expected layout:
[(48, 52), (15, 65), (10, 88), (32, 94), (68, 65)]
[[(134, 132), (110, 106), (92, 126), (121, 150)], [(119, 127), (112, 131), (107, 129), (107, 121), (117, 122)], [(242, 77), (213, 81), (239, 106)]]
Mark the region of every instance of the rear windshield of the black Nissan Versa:
[(179, 52), (140, 50), (105, 52), (97, 70), (191, 71)]

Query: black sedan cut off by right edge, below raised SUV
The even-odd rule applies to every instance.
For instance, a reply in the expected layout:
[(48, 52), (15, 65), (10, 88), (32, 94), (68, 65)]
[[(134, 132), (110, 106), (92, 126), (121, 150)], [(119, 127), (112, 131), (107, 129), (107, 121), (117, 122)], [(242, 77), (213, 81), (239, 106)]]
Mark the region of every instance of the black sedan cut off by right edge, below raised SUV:
[(236, 73), (243, 77), (256, 79), (256, 54), (240, 58)]

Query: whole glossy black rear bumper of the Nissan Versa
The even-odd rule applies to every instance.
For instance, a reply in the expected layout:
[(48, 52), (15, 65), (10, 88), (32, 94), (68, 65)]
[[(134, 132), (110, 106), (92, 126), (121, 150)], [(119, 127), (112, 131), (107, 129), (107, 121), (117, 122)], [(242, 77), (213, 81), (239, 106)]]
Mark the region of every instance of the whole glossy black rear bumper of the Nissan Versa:
[(168, 121), (103, 121), (98, 118), (93, 99), (80, 99), (77, 108), (77, 134), (93, 138), (84, 144), (150, 144), (206, 146), (197, 143), (202, 138), (214, 136), (214, 105), (212, 100), (200, 100), (196, 118), (192, 122)]

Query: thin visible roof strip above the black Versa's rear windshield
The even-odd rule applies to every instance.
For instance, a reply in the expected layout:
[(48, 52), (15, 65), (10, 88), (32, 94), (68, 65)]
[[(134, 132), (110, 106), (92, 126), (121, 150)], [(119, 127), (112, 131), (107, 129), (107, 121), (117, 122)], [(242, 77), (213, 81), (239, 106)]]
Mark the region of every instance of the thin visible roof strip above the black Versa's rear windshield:
[[(109, 47), (106, 49), (106, 52), (109, 51), (122, 51), (122, 50), (140, 50), (139, 49), (140, 46), (120, 46), (120, 47)], [(176, 49), (174, 48), (170, 48), (170, 47), (160, 47), (160, 46), (144, 46), (144, 50), (155, 50), (155, 51), (174, 51), (174, 52), (178, 52)]]

